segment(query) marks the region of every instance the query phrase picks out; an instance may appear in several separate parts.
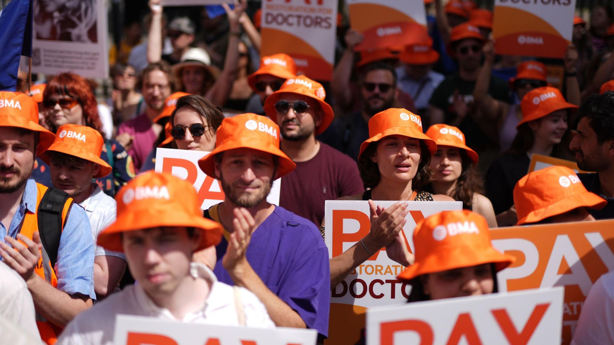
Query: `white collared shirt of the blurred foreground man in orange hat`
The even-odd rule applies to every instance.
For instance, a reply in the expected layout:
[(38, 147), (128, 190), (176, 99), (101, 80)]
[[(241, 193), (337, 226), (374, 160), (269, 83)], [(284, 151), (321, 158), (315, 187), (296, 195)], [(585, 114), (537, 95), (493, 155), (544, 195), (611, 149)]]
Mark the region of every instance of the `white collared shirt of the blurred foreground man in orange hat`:
[[(82, 312), (64, 329), (57, 345), (112, 345), (115, 333), (115, 316), (118, 314), (150, 316), (158, 320), (193, 322), (197, 324), (238, 326), (235, 292), (230, 285), (218, 282), (211, 269), (200, 263), (192, 263), (190, 274), (211, 283), (207, 301), (198, 312), (188, 313), (184, 319), (176, 319), (166, 308), (160, 308), (147, 296), (140, 284), (126, 287), (114, 293), (92, 308)], [(245, 325), (255, 328), (274, 328), (264, 304), (244, 288), (239, 296), (245, 314)]]

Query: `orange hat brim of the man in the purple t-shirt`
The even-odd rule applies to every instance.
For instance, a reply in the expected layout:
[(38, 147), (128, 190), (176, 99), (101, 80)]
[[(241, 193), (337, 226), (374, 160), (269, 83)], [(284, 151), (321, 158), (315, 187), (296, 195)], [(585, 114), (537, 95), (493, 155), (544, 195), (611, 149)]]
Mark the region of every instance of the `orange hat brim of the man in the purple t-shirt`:
[(211, 177), (215, 177), (219, 179), (219, 176), (216, 176), (216, 170), (214, 168), (214, 157), (218, 153), (222, 153), (228, 150), (235, 149), (254, 149), (266, 153), (271, 153), (271, 155), (276, 155), (279, 157), (279, 167), (278, 167), (278, 175), (277, 178), (286, 176), (292, 170), (294, 170), (297, 165), (294, 163), (279, 147), (275, 147), (271, 145), (269, 142), (265, 142), (260, 139), (255, 138), (231, 138), (222, 142), (222, 144), (217, 145), (217, 147), (212, 150), (208, 155), (198, 160), (198, 166), (204, 171), (205, 174)]

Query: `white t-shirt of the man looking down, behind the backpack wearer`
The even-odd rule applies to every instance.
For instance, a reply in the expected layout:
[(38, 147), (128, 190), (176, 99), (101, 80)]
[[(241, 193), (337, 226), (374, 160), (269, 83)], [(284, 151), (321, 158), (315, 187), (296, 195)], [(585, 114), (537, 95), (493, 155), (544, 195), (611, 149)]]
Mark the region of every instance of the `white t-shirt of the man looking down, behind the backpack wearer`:
[[(115, 222), (117, 217), (117, 201), (111, 196), (106, 195), (100, 186), (94, 184), (94, 191), (91, 192), (90, 197), (85, 199), (79, 206), (85, 209), (87, 218), (90, 220), (91, 236), (94, 239), (94, 243), (98, 241), (98, 235), (112, 222)], [(106, 250), (101, 246), (96, 246), (95, 257), (100, 255), (109, 255), (111, 257), (119, 257), (126, 260), (126, 256), (123, 253), (112, 252)]]

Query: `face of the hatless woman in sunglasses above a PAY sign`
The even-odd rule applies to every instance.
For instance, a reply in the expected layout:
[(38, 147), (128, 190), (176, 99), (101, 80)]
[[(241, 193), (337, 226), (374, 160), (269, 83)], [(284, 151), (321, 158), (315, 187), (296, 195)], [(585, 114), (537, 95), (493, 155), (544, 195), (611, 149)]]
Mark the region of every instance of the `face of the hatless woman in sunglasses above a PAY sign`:
[[(201, 136), (192, 136), (188, 127), (193, 123), (202, 123), (205, 126), (204, 134)], [(198, 114), (198, 111), (191, 106), (183, 106), (177, 109), (173, 119), (174, 126), (182, 126), (185, 130), (183, 139), (174, 139), (177, 144), (177, 149), (180, 150), (196, 150), (211, 152), (216, 148), (216, 134), (213, 133), (209, 123)]]

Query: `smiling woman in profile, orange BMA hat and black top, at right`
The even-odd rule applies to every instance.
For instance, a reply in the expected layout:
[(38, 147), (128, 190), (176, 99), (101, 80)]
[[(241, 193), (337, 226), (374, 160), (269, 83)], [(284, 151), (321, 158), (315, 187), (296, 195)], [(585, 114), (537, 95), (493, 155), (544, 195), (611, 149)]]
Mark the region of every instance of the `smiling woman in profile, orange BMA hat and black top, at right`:
[(529, 170), (534, 153), (556, 158), (569, 158), (564, 138), (567, 131), (568, 109), (561, 91), (539, 87), (524, 95), (520, 104), (523, 118), (516, 128), (518, 134), (508, 150), (492, 163), (486, 174), (486, 196), (492, 201), (497, 223), (507, 227), (516, 223), (513, 190), (516, 182)]

